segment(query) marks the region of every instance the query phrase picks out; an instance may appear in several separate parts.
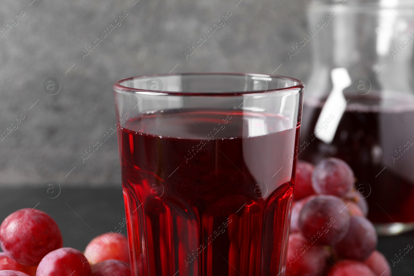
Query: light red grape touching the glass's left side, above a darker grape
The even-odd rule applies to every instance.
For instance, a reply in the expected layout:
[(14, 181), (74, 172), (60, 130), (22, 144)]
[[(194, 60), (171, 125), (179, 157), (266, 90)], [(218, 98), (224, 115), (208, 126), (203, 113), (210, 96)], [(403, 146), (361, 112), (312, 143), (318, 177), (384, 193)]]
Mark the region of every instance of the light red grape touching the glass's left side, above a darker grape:
[(99, 235), (89, 242), (85, 256), (90, 264), (110, 259), (129, 263), (128, 238), (115, 232)]

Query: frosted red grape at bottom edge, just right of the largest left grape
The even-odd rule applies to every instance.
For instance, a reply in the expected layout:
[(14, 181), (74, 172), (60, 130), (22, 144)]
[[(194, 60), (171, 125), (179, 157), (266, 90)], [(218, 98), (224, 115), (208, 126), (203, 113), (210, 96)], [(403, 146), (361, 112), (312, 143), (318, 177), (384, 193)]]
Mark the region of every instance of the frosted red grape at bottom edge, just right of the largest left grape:
[(36, 276), (91, 276), (91, 266), (82, 252), (63, 247), (48, 253), (37, 267)]

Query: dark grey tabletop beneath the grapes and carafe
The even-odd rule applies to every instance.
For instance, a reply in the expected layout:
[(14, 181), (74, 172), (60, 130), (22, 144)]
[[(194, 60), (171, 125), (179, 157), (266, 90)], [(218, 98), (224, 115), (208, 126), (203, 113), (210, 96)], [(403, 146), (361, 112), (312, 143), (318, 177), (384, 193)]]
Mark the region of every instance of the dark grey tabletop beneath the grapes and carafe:
[[(1, 188), (0, 221), (18, 209), (36, 206), (58, 223), (63, 246), (84, 251), (92, 238), (114, 230), (125, 218), (121, 187), (53, 187), (50, 190), (51, 187)], [(126, 228), (121, 229), (126, 235)], [(392, 275), (414, 275), (414, 250), (401, 254), (403, 257), (392, 266), (392, 260), (398, 260), (395, 254), (400, 254), (409, 244), (414, 245), (414, 232), (379, 238), (378, 250), (390, 262)]]

